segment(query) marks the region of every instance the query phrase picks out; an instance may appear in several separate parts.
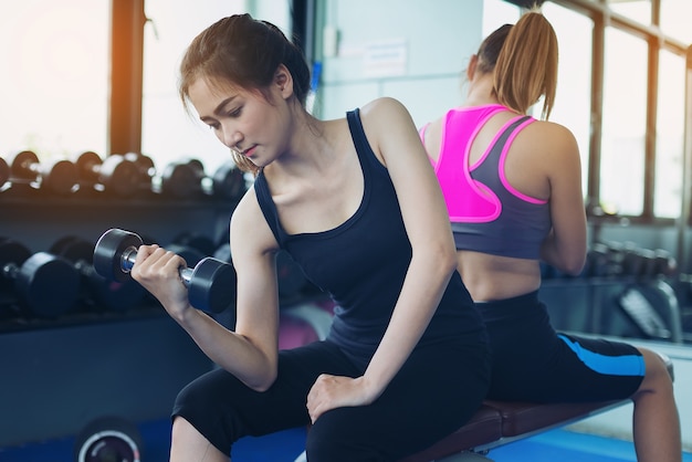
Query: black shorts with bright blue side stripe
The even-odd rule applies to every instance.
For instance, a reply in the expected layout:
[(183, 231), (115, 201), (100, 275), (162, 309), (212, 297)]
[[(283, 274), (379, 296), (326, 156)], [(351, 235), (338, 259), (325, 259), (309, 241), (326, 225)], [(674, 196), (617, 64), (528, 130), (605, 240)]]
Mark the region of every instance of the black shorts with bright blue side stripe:
[(476, 306), (491, 342), (490, 399), (626, 399), (641, 385), (644, 360), (636, 347), (556, 333), (537, 292)]

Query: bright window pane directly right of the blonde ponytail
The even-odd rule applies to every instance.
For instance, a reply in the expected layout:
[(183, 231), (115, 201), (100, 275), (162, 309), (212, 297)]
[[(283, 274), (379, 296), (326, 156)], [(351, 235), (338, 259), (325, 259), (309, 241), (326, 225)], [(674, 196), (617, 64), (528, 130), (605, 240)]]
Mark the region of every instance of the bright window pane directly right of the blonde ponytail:
[[(581, 188), (587, 191), (590, 93), (591, 93), (591, 20), (573, 10), (545, 3), (543, 13), (551, 21), (559, 46), (557, 92), (551, 120), (564, 125), (575, 135), (581, 155)], [(537, 106), (541, 109), (543, 102)]]

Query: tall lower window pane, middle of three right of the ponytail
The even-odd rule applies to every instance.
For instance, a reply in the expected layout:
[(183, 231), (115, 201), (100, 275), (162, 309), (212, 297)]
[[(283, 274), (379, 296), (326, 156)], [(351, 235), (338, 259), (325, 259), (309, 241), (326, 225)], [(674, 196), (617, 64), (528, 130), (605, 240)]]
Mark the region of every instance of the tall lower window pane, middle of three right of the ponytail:
[(647, 44), (606, 29), (600, 200), (608, 210), (639, 216), (643, 208)]

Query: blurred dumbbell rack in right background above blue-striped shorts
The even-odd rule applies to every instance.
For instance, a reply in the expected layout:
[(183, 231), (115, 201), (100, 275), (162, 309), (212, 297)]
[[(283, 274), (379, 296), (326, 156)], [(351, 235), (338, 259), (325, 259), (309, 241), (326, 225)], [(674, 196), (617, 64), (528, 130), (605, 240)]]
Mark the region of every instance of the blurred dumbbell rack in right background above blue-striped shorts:
[(667, 250), (597, 241), (577, 276), (542, 264), (541, 296), (558, 328), (682, 343), (675, 272)]

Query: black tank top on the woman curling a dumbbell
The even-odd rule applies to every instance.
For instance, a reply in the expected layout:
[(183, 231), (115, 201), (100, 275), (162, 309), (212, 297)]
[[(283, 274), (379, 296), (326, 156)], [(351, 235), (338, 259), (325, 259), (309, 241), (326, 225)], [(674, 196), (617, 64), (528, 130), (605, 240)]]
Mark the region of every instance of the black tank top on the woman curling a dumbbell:
[[(365, 183), (363, 200), (353, 217), (328, 231), (287, 234), (264, 175), (256, 177), (254, 189), (279, 245), (337, 305), (327, 340), (365, 368), (399, 297), (411, 261), (411, 244), (389, 172), (366, 139), (359, 111), (348, 112), (347, 119)], [(457, 272), (419, 345), (440, 338), (463, 344), (485, 338), (482, 321)]]

